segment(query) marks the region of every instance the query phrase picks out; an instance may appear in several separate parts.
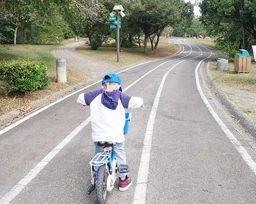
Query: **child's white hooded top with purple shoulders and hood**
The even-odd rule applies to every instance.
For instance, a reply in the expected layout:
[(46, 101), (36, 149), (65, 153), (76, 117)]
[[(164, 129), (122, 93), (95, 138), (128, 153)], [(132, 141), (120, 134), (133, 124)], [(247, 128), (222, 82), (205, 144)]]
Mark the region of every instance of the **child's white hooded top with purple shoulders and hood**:
[(119, 90), (106, 92), (105, 89), (82, 93), (77, 103), (90, 105), (93, 142), (124, 141), (125, 108), (139, 108), (143, 105), (140, 97), (129, 96)]

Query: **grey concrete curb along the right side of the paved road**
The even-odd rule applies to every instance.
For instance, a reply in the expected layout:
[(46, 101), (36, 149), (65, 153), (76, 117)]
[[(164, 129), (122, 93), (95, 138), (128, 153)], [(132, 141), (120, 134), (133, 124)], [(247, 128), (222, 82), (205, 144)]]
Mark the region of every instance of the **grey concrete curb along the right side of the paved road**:
[(217, 98), (219, 101), (228, 109), (230, 114), (239, 120), (239, 124), (248, 131), (252, 137), (256, 140), (256, 124), (253, 120), (249, 118), (244, 112), (238, 110), (234, 103), (229, 100), (226, 94), (224, 94), (216, 82), (213, 80), (212, 76), (209, 73), (209, 61), (206, 64), (205, 74), (208, 79), (210, 79), (210, 86), (214, 87), (214, 90), (218, 93)]

